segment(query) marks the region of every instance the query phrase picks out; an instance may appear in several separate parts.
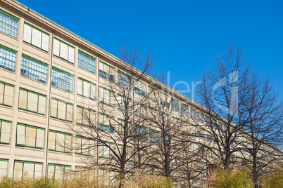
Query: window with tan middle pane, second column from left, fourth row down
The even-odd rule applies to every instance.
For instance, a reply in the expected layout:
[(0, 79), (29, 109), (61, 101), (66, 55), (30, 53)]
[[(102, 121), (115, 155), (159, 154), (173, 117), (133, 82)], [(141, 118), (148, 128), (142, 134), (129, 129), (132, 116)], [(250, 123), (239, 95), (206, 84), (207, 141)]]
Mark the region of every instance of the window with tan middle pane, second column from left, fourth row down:
[(34, 147), (43, 149), (44, 128), (27, 126), (21, 123), (17, 124), (17, 146)]

